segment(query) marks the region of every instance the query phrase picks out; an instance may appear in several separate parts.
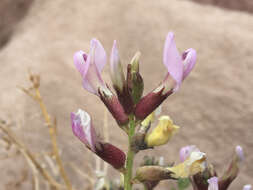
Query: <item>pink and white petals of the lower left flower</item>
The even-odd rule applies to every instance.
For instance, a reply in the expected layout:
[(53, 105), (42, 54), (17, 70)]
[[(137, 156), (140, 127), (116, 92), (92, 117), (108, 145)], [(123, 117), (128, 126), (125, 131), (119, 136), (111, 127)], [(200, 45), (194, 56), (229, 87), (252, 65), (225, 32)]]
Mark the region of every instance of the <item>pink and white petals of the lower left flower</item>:
[(71, 113), (72, 131), (88, 148), (95, 152), (96, 133), (89, 114), (81, 109)]

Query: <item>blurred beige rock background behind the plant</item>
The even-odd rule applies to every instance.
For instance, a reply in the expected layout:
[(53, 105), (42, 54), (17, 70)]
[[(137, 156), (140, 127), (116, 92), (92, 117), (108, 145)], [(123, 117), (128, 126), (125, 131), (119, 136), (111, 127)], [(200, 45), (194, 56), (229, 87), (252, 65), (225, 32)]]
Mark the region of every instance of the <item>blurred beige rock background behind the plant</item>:
[[(163, 104), (163, 114), (181, 130), (167, 145), (138, 154), (137, 165), (144, 155), (178, 162), (180, 147), (194, 144), (222, 173), (234, 147), (241, 145), (246, 160), (230, 189), (242, 189), (253, 179), (252, 12), (252, 0), (1, 0), (0, 118), (12, 123), (34, 152), (50, 147), (38, 105), (17, 88), (29, 86), (28, 69), (39, 73), (48, 111), (57, 117), (63, 160), (84, 170), (94, 161), (72, 134), (70, 112), (86, 110), (103, 133), (104, 106), (82, 88), (74, 52), (87, 52), (96, 37), (109, 55), (116, 39), (126, 66), (141, 51), (146, 94), (165, 75), (163, 45), (167, 32), (173, 31), (181, 52), (192, 47), (198, 53), (191, 75)], [(103, 74), (109, 82), (108, 66)], [(110, 142), (127, 150), (125, 134), (108, 117)], [(27, 179), (16, 183), (27, 169)], [(85, 187), (82, 178), (67, 171), (76, 187)], [(116, 175), (110, 170), (109, 177)], [(1, 190), (31, 189), (29, 168), (20, 156), (0, 161), (0, 178)], [(162, 182), (160, 189), (168, 189), (168, 183)]]

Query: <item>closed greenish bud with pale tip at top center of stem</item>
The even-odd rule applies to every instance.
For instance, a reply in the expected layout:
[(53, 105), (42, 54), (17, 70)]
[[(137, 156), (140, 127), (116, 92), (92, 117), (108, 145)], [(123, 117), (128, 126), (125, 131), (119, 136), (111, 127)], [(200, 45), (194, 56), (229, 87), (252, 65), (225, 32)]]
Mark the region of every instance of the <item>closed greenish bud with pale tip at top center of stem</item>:
[(127, 66), (127, 87), (134, 104), (140, 100), (144, 88), (143, 79), (139, 73), (140, 55), (140, 52), (137, 52), (131, 63)]

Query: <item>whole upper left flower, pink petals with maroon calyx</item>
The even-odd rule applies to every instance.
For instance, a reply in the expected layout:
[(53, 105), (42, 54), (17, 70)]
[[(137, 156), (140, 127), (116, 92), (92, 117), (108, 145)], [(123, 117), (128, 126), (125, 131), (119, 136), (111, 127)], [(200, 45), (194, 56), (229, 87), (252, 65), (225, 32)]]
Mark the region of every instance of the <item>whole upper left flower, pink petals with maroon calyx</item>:
[(90, 46), (89, 54), (78, 51), (74, 55), (74, 64), (82, 76), (83, 87), (98, 95), (117, 123), (125, 125), (128, 122), (128, 116), (125, 114), (118, 98), (111, 92), (101, 77), (102, 69), (106, 64), (106, 52), (102, 44), (96, 39), (91, 40)]

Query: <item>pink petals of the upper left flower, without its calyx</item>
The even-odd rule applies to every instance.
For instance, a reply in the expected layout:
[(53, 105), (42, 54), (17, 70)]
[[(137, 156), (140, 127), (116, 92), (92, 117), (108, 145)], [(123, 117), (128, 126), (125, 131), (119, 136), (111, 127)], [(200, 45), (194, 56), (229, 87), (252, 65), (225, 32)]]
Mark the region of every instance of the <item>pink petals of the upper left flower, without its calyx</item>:
[(106, 52), (97, 39), (90, 42), (89, 54), (78, 51), (74, 55), (74, 64), (83, 78), (83, 87), (98, 95), (98, 88), (105, 86), (101, 72), (106, 64)]

